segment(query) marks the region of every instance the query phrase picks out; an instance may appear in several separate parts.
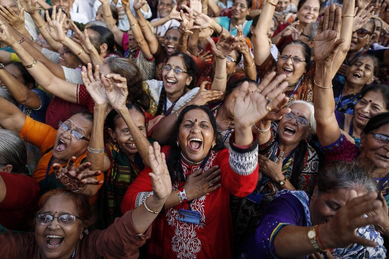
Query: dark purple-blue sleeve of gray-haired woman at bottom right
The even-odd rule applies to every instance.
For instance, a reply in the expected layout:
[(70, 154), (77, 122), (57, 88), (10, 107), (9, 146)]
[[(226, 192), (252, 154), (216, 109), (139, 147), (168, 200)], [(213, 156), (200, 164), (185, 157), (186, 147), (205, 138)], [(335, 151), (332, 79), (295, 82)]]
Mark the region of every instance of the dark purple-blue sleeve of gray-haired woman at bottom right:
[(245, 245), (247, 258), (278, 258), (273, 242), (279, 230), (288, 225), (305, 225), (304, 207), (291, 193), (275, 198), (264, 211), (260, 224)]

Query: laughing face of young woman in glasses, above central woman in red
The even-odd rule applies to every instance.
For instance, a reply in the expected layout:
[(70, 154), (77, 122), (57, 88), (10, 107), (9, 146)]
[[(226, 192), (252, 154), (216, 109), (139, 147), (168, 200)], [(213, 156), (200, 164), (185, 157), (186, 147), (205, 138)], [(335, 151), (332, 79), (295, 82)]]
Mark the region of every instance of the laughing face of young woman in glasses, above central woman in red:
[[(166, 67), (172, 68), (170, 71), (162, 70), (163, 84), (165, 91), (170, 96), (181, 96), (184, 93), (186, 85), (192, 81), (192, 77), (188, 76), (184, 59), (179, 56), (171, 57), (167, 60)], [(177, 74), (174, 69), (181, 69), (183, 73)], [(188, 84), (187, 84), (188, 83)]]

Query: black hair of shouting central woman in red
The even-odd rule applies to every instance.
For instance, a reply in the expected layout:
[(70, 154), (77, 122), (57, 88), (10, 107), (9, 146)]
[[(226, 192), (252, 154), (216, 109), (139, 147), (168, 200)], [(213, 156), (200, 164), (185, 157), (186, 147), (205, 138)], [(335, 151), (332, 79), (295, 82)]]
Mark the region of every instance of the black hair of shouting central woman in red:
[(191, 110), (202, 110), (204, 111), (208, 118), (209, 121), (211, 122), (212, 128), (213, 128), (213, 136), (215, 138), (215, 143), (216, 145), (214, 147), (211, 147), (212, 150), (221, 150), (224, 148), (222, 136), (217, 130), (217, 124), (216, 124), (216, 119), (213, 117), (213, 114), (211, 110), (205, 105), (189, 105), (185, 107), (185, 109), (181, 112), (180, 116), (178, 116), (178, 119), (175, 123), (174, 126), (174, 132), (171, 135), (170, 139), (170, 153), (167, 158), (167, 168), (169, 169), (169, 174), (171, 178), (171, 183), (174, 184), (176, 182), (182, 182), (185, 180), (184, 172), (182, 170), (182, 165), (181, 165), (181, 147), (177, 146), (176, 141), (178, 141), (178, 135), (180, 132), (180, 125), (182, 123), (182, 120), (184, 119), (184, 116)]

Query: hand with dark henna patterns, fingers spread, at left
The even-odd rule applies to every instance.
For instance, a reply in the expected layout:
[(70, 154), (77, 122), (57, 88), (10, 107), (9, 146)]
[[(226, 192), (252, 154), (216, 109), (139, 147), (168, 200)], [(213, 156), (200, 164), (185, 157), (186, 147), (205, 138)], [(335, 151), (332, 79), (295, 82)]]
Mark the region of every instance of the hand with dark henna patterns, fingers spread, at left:
[(96, 176), (101, 175), (101, 171), (91, 171), (89, 167), (91, 163), (83, 163), (77, 168), (74, 168), (76, 157), (69, 159), (66, 167), (61, 167), (60, 164), (53, 164), (55, 176), (63, 186), (72, 191), (78, 191), (85, 185), (99, 185), (103, 181), (96, 180)]

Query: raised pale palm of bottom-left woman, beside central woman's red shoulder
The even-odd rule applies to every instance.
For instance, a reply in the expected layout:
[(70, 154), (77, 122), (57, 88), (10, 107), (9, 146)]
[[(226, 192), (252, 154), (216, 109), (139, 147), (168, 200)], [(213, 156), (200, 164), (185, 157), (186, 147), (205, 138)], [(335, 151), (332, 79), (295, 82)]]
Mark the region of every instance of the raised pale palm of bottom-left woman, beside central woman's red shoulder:
[(165, 202), (171, 193), (171, 179), (166, 165), (165, 154), (161, 153), (158, 142), (148, 147), (148, 160), (152, 172), (148, 174), (152, 181), (153, 197)]

